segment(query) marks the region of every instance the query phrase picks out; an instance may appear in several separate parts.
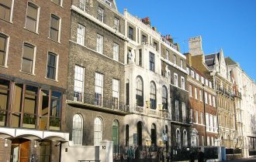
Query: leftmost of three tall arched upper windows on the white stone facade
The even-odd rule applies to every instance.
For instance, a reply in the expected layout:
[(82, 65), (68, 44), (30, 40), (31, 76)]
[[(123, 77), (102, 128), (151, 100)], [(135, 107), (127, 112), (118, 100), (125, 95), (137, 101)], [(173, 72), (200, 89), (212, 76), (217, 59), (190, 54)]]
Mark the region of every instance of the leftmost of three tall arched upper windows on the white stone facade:
[(143, 81), (140, 76), (136, 78), (136, 104), (137, 106), (144, 106), (144, 89)]

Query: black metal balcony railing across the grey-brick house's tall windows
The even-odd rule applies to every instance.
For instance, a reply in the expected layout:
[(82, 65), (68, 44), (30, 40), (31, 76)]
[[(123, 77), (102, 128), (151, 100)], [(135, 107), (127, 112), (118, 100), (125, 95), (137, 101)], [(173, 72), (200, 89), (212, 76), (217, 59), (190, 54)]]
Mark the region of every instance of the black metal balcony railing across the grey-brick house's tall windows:
[(129, 107), (125, 103), (119, 102), (117, 98), (113, 97), (111, 99), (102, 97), (101, 94), (95, 93), (78, 93), (78, 92), (68, 92), (67, 100), (73, 100), (80, 103), (86, 103), (92, 106), (104, 107), (110, 110), (119, 110), (123, 112), (129, 112)]

